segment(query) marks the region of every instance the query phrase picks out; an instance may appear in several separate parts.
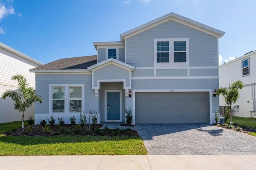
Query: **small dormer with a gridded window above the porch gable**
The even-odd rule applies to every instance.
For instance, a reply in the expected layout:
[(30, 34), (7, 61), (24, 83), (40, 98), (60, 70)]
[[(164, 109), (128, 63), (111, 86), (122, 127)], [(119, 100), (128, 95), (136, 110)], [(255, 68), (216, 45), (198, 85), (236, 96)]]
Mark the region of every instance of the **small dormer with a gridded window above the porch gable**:
[(94, 42), (93, 44), (97, 50), (97, 63), (110, 58), (125, 62), (122, 42)]

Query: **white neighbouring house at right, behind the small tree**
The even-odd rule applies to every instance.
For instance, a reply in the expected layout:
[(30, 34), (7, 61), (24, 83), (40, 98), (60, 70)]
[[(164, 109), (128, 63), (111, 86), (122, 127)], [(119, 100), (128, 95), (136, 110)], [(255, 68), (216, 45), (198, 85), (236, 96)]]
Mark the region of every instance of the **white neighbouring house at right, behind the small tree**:
[[(251, 51), (232, 61), (220, 65), (220, 87), (228, 88), (233, 82), (241, 80), (244, 87), (239, 90), (240, 97), (232, 105), (232, 115), (239, 117), (256, 117), (255, 86), (256, 86), (256, 51)], [(239, 105), (239, 109), (235, 108)], [(220, 106), (225, 100), (220, 95)], [(235, 107), (234, 107), (235, 106)], [(223, 111), (222, 111), (223, 112)]]

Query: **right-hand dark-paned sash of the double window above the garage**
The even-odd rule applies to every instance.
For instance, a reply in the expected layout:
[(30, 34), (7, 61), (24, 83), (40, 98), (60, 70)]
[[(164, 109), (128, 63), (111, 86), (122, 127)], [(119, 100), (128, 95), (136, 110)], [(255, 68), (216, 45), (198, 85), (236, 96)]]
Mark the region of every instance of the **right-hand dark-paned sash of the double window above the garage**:
[(174, 41), (174, 63), (186, 63), (186, 41)]

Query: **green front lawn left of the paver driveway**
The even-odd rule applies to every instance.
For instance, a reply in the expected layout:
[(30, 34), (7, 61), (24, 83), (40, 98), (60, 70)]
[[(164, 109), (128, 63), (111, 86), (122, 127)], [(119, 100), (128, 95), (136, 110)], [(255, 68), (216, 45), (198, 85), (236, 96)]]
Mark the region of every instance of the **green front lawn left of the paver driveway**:
[(3, 136), (21, 122), (0, 124), (0, 155), (135, 155), (147, 154), (140, 137)]

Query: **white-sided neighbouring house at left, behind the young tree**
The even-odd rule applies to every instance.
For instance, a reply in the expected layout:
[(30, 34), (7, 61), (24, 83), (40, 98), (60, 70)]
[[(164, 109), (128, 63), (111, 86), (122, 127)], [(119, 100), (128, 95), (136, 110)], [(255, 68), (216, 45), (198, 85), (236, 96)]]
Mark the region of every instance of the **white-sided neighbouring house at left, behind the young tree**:
[[(42, 63), (0, 43), (0, 123), (21, 121), (22, 114), (14, 109), (14, 102), (11, 98), (3, 100), (2, 94), (6, 90), (17, 90), (18, 81), (13, 81), (12, 76), (22, 74), (31, 87), (35, 87), (35, 74), (29, 69), (41, 66)], [(26, 109), (25, 119), (34, 117), (35, 105)]]

